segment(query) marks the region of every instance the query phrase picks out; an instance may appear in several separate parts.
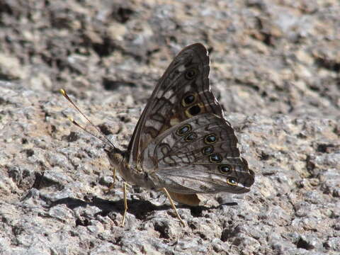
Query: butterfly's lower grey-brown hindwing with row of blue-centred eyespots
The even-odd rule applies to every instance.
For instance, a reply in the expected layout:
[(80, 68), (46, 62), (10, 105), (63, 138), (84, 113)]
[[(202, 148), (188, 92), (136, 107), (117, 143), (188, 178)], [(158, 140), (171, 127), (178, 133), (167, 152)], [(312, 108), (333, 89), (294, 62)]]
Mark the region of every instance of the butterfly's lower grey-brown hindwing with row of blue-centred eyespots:
[(223, 118), (204, 113), (171, 127), (143, 151), (142, 168), (154, 169), (177, 193), (244, 193), (254, 173), (239, 157), (234, 130)]

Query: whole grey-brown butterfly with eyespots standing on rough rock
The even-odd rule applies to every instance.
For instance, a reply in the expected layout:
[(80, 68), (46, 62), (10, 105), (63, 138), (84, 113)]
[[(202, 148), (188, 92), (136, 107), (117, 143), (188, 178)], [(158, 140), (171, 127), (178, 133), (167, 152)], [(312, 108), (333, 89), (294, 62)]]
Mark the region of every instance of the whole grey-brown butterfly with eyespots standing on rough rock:
[(173, 200), (198, 205), (200, 193), (250, 191), (255, 174), (240, 157), (234, 129), (212, 94), (209, 62), (202, 44), (184, 47), (154, 88), (128, 149), (103, 139), (111, 166), (125, 181), (122, 225), (126, 182), (164, 191), (183, 225)]

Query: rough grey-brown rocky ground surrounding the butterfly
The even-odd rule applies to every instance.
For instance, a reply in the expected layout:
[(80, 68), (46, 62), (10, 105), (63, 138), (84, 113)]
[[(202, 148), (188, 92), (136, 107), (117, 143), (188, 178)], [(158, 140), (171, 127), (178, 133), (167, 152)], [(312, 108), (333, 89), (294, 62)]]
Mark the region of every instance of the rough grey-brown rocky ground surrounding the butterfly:
[[(0, 0), (0, 254), (340, 254), (337, 0)], [(154, 84), (185, 45), (256, 182), (216, 207), (130, 188), (74, 101), (126, 147)]]

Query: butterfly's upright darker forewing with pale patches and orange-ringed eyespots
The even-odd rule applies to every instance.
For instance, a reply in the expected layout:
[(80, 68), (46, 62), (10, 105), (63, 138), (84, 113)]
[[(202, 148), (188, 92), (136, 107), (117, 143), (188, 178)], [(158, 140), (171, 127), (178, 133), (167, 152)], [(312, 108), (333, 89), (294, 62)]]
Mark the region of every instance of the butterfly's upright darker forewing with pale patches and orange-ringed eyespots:
[(137, 123), (128, 150), (135, 165), (154, 138), (171, 126), (201, 113), (223, 117), (210, 91), (209, 57), (199, 43), (185, 47), (159, 80)]

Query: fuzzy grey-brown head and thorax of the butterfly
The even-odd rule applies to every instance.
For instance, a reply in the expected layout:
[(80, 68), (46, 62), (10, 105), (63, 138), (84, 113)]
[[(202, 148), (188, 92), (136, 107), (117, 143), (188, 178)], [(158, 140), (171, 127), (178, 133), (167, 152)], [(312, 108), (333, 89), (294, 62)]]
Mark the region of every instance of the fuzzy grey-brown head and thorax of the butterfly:
[(106, 149), (106, 153), (111, 166), (118, 170), (120, 176), (128, 183), (151, 190), (162, 188), (162, 186), (155, 184), (160, 183), (157, 176), (149, 175), (140, 166), (132, 166), (128, 163), (130, 152), (111, 147)]

